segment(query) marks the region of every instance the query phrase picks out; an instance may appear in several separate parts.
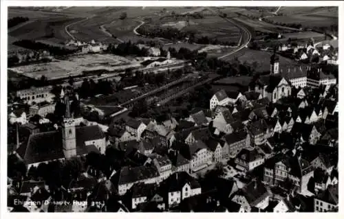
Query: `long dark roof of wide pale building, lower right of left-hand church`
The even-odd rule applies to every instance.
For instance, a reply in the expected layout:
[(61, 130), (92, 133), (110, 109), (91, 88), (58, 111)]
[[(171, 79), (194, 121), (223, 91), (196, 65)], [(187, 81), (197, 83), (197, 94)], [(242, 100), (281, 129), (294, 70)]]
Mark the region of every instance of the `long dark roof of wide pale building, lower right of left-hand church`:
[(135, 183), (137, 181), (141, 181), (146, 178), (153, 178), (159, 176), (158, 170), (155, 166), (138, 166), (135, 168), (131, 168), (129, 166), (125, 166), (120, 170), (120, 178), (118, 181), (118, 185), (123, 185), (127, 183)]

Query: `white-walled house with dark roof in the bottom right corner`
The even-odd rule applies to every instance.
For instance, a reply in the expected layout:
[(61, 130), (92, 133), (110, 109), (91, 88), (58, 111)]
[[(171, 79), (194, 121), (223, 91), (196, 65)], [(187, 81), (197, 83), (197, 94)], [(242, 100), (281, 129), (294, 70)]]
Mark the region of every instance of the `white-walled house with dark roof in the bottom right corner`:
[(314, 211), (332, 211), (338, 207), (338, 184), (330, 185), (327, 189), (314, 197)]

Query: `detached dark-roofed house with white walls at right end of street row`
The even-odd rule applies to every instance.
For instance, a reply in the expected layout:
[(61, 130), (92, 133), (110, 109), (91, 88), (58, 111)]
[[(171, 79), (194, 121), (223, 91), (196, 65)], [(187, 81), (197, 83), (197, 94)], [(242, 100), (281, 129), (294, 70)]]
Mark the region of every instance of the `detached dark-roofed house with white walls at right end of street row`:
[(264, 161), (264, 154), (261, 154), (257, 149), (248, 150), (247, 148), (241, 150), (235, 159), (237, 168), (245, 171), (257, 168)]

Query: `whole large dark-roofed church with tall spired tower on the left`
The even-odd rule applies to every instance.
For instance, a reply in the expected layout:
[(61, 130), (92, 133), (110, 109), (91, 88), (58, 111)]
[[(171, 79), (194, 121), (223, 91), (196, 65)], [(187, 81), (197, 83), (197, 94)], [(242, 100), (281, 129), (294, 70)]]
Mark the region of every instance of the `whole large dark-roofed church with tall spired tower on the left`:
[(98, 125), (77, 126), (71, 113), (69, 93), (61, 93), (65, 104), (65, 115), (61, 128), (50, 132), (30, 135), (27, 144), (22, 144), (17, 155), (30, 168), (39, 163), (80, 157), (89, 152), (105, 154), (105, 133)]

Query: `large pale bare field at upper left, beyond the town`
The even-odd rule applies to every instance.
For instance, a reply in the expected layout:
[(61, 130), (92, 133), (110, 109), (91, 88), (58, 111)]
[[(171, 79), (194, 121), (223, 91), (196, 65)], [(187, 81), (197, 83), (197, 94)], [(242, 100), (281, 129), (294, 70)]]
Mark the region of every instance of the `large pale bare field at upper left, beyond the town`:
[(138, 62), (121, 56), (93, 54), (69, 57), (68, 60), (56, 60), (43, 64), (25, 65), (10, 68), (10, 70), (23, 74), (29, 78), (39, 79), (41, 76), (48, 80), (66, 78), (68, 76), (80, 76), (83, 71), (96, 71), (105, 69), (115, 71), (123, 66), (140, 66)]

